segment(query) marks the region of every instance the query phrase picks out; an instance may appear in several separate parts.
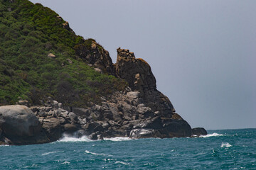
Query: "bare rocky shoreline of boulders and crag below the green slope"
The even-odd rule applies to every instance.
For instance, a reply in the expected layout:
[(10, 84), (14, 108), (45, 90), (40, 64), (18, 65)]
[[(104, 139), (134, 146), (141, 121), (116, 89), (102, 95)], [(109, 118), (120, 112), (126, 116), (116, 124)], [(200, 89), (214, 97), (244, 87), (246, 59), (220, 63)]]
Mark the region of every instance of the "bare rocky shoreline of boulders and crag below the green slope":
[[(126, 80), (129, 86), (124, 91), (102, 96), (100, 105), (92, 103), (87, 108), (63, 106), (50, 97), (41, 106), (29, 106), (26, 101), (1, 106), (0, 145), (54, 142), (63, 133), (87, 135), (91, 140), (207, 135), (203, 128), (191, 129), (176, 113), (169, 98), (156, 89), (149, 64), (135, 58), (133, 52), (118, 48), (115, 64), (106, 51), (94, 54), (87, 56), (97, 58), (93, 60), (97, 62), (90, 62), (91, 66), (100, 72), (109, 70), (108, 73)], [(99, 62), (105, 60), (108, 62), (102, 62), (104, 65)]]

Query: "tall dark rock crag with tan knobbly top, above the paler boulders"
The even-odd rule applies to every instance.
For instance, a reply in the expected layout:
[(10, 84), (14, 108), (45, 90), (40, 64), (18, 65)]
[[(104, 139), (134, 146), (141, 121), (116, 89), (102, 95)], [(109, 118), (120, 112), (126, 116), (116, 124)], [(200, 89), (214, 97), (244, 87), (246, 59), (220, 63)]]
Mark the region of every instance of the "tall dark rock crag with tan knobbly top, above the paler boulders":
[(153, 112), (159, 111), (167, 115), (175, 112), (169, 98), (156, 89), (156, 79), (147, 62), (136, 59), (134, 52), (118, 48), (117, 63), (114, 65), (117, 77), (125, 79), (132, 91), (139, 91), (144, 103)]

